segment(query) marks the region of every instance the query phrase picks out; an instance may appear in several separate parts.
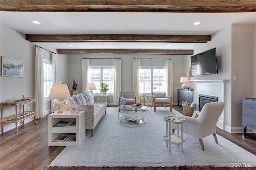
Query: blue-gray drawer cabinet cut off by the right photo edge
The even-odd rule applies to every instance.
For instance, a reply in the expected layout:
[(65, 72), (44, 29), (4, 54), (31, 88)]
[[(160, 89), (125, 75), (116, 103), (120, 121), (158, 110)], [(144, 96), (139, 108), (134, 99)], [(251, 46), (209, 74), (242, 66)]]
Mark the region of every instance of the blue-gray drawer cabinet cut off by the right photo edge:
[(246, 128), (256, 129), (256, 98), (242, 99), (242, 121), (243, 121), (243, 137), (246, 136)]

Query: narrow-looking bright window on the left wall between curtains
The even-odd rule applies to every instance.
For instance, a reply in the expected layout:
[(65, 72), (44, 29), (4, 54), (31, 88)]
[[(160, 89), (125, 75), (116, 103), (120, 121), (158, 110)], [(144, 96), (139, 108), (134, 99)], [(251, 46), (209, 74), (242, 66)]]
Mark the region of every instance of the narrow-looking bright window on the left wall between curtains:
[(52, 62), (44, 60), (44, 98), (48, 98), (52, 88)]

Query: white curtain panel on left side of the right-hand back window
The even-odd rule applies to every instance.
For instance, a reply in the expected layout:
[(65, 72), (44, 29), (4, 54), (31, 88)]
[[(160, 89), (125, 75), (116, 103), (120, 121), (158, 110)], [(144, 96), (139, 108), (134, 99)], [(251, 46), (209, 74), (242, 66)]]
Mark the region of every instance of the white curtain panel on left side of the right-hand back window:
[(138, 100), (140, 98), (140, 59), (132, 60), (132, 70), (132, 91)]

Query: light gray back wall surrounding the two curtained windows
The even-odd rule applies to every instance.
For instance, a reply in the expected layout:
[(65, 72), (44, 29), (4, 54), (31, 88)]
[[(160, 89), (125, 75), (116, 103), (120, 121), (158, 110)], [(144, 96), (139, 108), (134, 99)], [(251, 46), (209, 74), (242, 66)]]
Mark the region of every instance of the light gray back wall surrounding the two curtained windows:
[[(174, 95), (173, 102), (177, 104), (177, 89), (181, 88), (180, 77), (184, 76), (183, 55), (69, 55), (68, 57), (68, 83), (72, 85), (73, 77), (78, 81), (78, 91), (81, 92), (81, 68), (82, 59), (90, 58), (90, 65), (113, 65), (112, 59), (122, 60), (122, 91), (132, 91), (132, 59), (140, 60), (141, 65), (165, 65), (165, 60), (143, 60), (143, 59), (173, 59), (174, 70)], [(97, 60), (94, 60), (97, 58)], [(108, 58), (110, 60), (100, 60)], [(151, 98), (148, 99), (150, 104)], [(108, 103), (113, 103), (112, 96), (108, 96)]]

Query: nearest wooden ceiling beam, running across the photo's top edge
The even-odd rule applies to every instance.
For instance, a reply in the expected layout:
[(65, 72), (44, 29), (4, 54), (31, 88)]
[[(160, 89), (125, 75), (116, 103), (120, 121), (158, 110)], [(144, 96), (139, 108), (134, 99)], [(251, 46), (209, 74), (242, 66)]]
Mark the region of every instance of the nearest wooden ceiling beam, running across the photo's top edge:
[(256, 12), (255, 0), (1, 0), (19, 12)]

